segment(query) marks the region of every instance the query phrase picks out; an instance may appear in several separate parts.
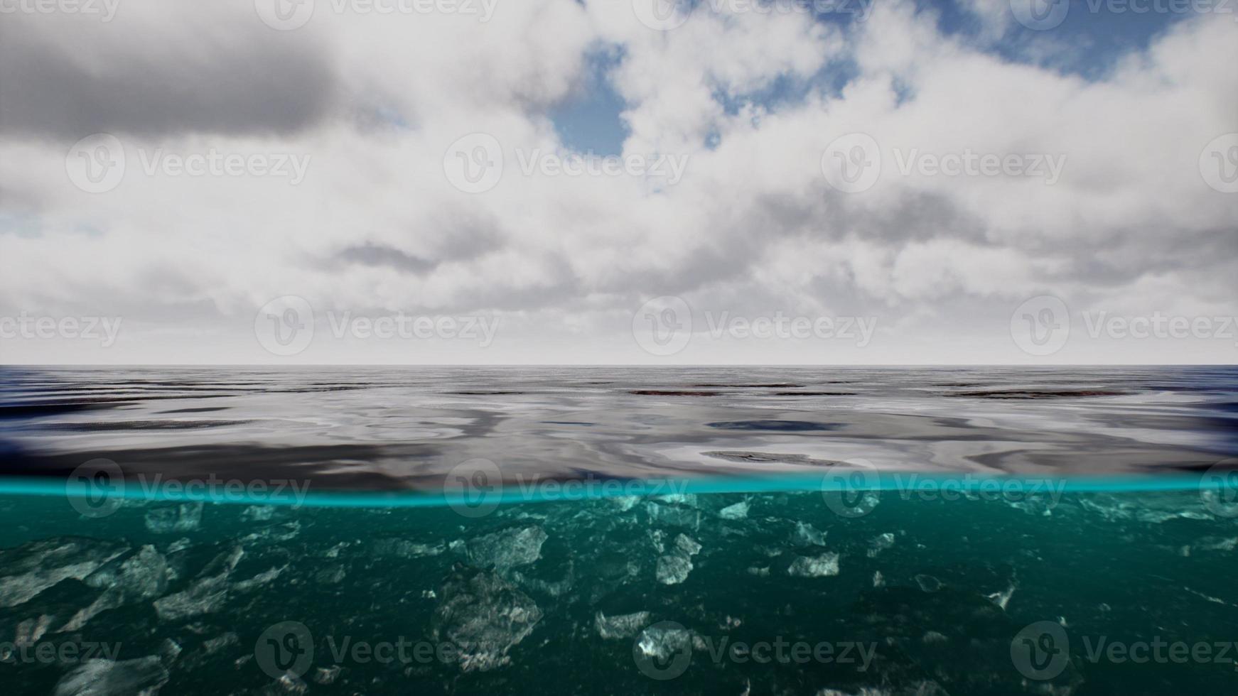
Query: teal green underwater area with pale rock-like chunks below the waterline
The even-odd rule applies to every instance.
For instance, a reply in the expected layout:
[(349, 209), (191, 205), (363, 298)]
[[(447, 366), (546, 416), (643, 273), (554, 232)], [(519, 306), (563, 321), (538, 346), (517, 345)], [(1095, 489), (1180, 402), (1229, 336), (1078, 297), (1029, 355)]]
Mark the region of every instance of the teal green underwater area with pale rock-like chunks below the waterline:
[(0, 674), (19, 694), (1238, 691), (1223, 481), (915, 481), (83, 508), (10, 480)]

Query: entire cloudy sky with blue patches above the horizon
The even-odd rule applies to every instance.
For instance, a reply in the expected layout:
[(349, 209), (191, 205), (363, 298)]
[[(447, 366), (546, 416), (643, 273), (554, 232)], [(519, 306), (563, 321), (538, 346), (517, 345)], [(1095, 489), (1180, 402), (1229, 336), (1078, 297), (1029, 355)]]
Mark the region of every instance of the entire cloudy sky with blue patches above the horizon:
[(9, 0), (0, 363), (1233, 363), (1232, 5)]

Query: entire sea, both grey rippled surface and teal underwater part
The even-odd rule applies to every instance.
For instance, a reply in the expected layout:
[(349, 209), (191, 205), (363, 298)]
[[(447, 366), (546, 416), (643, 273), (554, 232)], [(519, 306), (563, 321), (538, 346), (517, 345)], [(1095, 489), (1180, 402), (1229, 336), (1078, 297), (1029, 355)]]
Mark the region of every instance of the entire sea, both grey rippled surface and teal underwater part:
[(1238, 694), (1238, 368), (0, 368), (11, 694)]

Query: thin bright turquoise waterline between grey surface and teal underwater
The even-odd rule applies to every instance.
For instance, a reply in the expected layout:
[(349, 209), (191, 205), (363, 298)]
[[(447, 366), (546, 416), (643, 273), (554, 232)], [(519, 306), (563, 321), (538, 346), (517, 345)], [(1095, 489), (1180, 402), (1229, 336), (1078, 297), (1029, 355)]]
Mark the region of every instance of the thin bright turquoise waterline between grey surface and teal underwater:
[[(792, 491), (822, 492), (901, 492), (915, 496), (989, 494), (1036, 497), (1062, 493), (1093, 492), (1167, 492), (1167, 491), (1221, 491), (1229, 490), (1233, 483), (1224, 477), (1212, 475), (1174, 473), (1158, 476), (1071, 476), (1071, 477), (1028, 477), (993, 476), (978, 473), (920, 473), (920, 472), (881, 472), (869, 473), (859, 480), (848, 477), (849, 472), (832, 476), (782, 475), (769, 477), (703, 477), (703, 478), (650, 478), (650, 480), (586, 480), (579, 481), (537, 481), (525, 485), (508, 486), (501, 490), (480, 493), (485, 504), (506, 504), (526, 502), (571, 502), (604, 499), (620, 496), (667, 496), (667, 494), (709, 494), (709, 493), (771, 493)], [(199, 488), (202, 488), (199, 486)], [(82, 483), (67, 482), (61, 478), (0, 478), (0, 494), (5, 496), (68, 496), (95, 498), (125, 498), (172, 502), (213, 502), (238, 504), (270, 504), (296, 507), (361, 507), (361, 508), (409, 508), (442, 506), (475, 506), (479, 493), (454, 493), (444, 491), (381, 491), (381, 492), (340, 492), (340, 491), (284, 491), (264, 493), (220, 492), (218, 487), (206, 491), (180, 490), (167, 486), (147, 488), (128, 485), (121, 490), (104, 493), (92, 493), (82, 490)]]

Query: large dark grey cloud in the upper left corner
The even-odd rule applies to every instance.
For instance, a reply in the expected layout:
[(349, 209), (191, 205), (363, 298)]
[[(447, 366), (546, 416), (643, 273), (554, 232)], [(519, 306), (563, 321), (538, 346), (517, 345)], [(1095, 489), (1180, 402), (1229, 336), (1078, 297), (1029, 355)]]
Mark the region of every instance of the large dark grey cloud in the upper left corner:
[(58, 31), (52, 17), (5, 15), (0, 134), (290, 134), (339, 101), (335, 61), (312, 35), (286, 36), (235, 12), (201, 26), (193, 41), (178, 38), (184, 31), (161, 33), (123, 16)]

